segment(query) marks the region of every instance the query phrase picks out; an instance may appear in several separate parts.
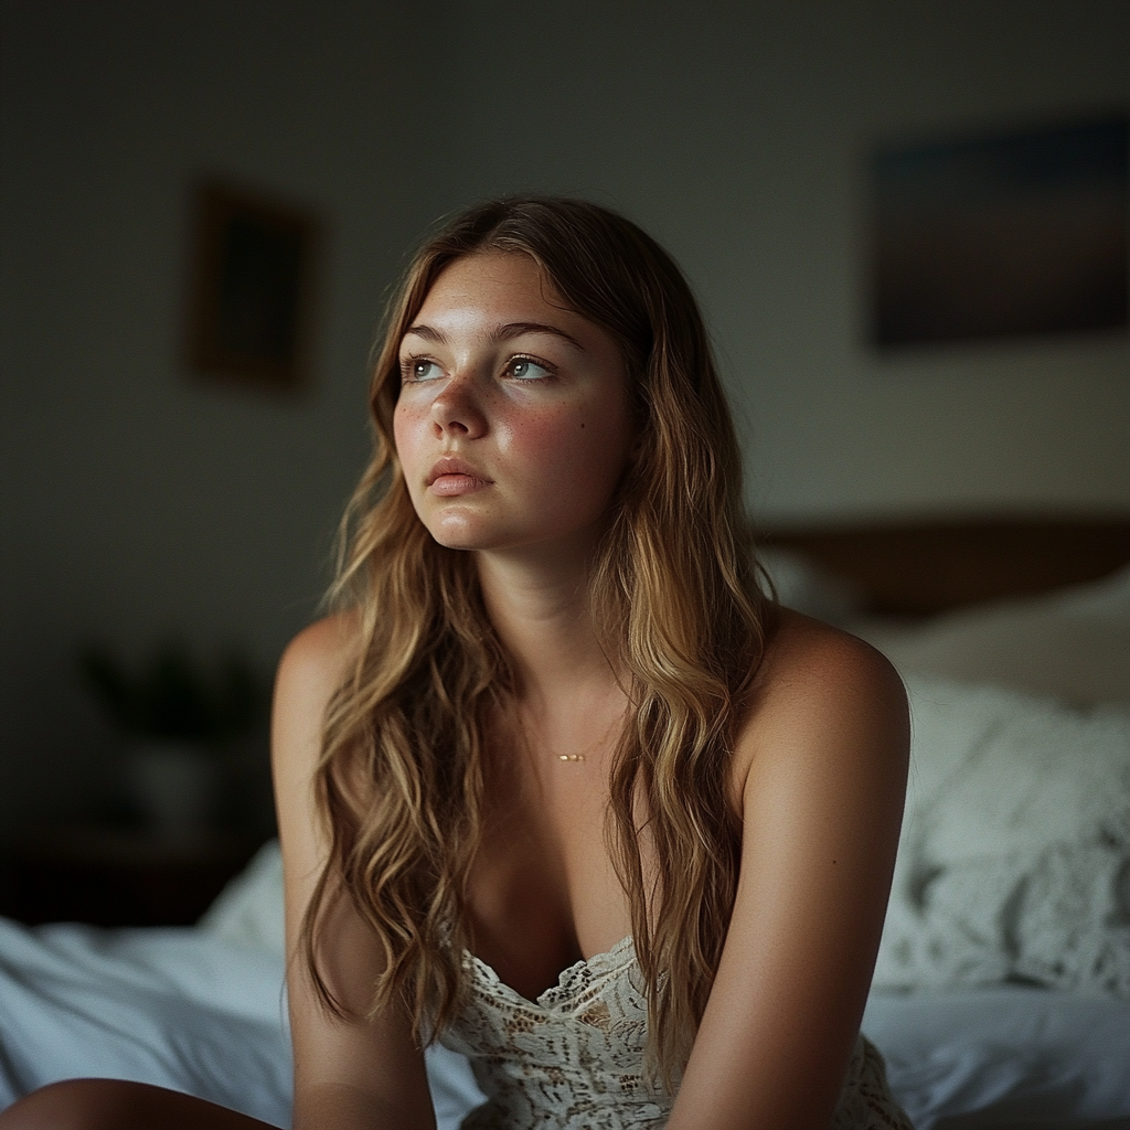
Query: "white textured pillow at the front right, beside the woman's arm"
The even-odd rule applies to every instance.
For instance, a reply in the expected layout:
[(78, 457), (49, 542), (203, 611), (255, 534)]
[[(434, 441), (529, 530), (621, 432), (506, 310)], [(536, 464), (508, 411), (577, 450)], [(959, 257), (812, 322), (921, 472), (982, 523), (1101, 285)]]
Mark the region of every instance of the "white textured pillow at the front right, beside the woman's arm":
[(907, 680), (906, 812), (875, 984), (1130, 996), (1130, 710)]

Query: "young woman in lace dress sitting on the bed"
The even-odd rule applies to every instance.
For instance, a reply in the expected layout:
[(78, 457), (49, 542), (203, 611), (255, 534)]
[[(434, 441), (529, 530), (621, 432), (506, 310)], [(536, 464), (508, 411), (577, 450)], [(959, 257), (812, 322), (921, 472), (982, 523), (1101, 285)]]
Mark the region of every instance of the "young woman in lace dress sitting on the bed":
[[(340, 611), (276, 695), (295, 1127), (434, 1127), (437, 1038), (468, 1130), (907, 1128), (859, 1035), (903, 689), (758, 585), (678, 268), (594, 205), (472, 208), (371, 406)], [(27, 1110), (84, 1086), (142, 1102)]]

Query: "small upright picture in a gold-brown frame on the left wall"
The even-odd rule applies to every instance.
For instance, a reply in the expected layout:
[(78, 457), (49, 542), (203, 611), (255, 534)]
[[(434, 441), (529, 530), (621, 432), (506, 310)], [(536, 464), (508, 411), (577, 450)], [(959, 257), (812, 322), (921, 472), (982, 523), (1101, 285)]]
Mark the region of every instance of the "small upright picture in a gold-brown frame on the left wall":
[(321, 225), (313, 211), (209, 180), (193, 199), (188, 359), (208, 379), (310, 380)]

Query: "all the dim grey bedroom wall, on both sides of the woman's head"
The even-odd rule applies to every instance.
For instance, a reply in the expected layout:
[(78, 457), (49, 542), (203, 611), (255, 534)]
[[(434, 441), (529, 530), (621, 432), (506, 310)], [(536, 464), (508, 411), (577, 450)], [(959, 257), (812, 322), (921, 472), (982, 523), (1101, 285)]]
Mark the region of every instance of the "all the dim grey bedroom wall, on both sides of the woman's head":
[[(108, 789), (73, 675), (179, 631), (264, 666), (312, 614), (366, 451), (383, 288), (498, 191), (637, 218), (703, 297), (776, 522), (1130, 510), (1122, 337), (860, 345), (872, 139), (1125, 105), (1121, 2), (0, 5), (0, 827)], [(308, 200), (316, 386), (179, 360), (188, 185)]]

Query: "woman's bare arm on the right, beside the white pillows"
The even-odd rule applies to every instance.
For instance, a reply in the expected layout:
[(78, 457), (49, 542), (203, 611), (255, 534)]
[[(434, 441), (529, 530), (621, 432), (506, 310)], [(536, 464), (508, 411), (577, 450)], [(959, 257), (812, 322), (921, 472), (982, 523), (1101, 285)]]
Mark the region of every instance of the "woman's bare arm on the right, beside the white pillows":
[(737, 899), (669, 1130), (827, 1130), (883, 930), (910, 747), (866, 644), (790, 616), (737, 749)]

